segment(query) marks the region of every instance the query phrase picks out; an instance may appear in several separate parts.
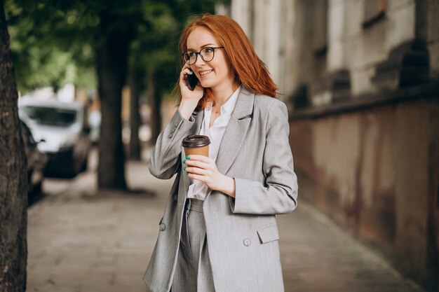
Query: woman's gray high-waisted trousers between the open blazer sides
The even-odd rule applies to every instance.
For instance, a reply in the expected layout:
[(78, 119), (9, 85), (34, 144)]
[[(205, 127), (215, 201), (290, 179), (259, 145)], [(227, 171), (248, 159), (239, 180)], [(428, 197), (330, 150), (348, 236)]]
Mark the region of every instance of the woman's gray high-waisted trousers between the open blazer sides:
[(182, 236), (171, 291), (215, 292), (201, 200), (189, 199), (184, 209)]

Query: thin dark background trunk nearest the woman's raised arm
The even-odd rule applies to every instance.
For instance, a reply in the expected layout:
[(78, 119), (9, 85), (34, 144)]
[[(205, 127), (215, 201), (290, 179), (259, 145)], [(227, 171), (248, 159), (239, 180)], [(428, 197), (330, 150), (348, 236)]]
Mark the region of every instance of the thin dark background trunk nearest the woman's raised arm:
[(151, 106), (151, 142), (154, 144), (161, 132), (160, 95), (158, 94), (158, 87), (156, 86), (156, 73), (154, 70), (148, 72), (147, 83), (148, 101), (149, 106)]

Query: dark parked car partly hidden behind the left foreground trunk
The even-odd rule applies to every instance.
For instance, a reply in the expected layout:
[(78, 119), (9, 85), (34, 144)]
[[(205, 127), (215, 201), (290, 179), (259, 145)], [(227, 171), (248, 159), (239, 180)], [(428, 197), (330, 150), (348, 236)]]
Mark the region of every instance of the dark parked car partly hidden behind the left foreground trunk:
[(23, 122), (21, 122), (21, 136), (25, 144), (27, 159), (27, 193), (28, 195), (41, 193), (44, 169), (48, 161), (47, 155), (39, 151), (29, 127)]

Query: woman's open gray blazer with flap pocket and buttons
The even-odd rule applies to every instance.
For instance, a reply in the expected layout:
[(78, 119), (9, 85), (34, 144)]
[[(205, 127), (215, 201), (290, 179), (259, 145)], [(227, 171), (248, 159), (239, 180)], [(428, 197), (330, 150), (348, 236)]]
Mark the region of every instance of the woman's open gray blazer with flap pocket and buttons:
[[(176, 111), (151, 151), (151, 174), (158, 179), (177, 174), (143, 277), (153, 292), (169, 292), (172, 284), (190, 184), (182, 169), (182, 139), (198, 134), (202, 120), (203, 111), (189, 120)], [(219, 172), (235, 179), (236, 199), (209, 190), (203, 204), (217, 292), (284, 291), (276, 214), (297, 206), (289, 132), (283, 102), (241, 88), (216, 160)]]

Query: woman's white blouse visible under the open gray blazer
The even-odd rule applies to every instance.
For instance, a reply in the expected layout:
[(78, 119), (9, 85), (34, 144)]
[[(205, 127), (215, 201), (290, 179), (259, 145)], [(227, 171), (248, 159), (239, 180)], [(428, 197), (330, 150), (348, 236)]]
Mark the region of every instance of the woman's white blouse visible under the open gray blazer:
[[(208, 106), (209, 109), (204, 109), (204, 118), (199, 134), (209, 137), (209, 158), (214, 161), (217, 160), (219, 144), (221, 144), (222, 136), (224, 135), (224, 131), (229, 124), (231, 113), (234, 111), (240, 90), (241, 86), (239, 86), (231, 97), (229, 97), (227, 102), (221, 106), (221, 113), (213, 122), (212, 127), (209, 127), (212, 106)], [(187, 193), (188, 198), (205, 200), (207, 193), (208, 186), (206, 186), (205, 183), (198, 181), (197, 179), (191, 179), (191, 185), (189, 186), (189, 191)]]

